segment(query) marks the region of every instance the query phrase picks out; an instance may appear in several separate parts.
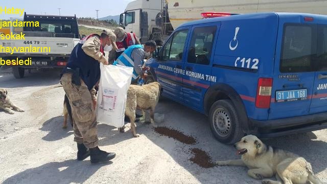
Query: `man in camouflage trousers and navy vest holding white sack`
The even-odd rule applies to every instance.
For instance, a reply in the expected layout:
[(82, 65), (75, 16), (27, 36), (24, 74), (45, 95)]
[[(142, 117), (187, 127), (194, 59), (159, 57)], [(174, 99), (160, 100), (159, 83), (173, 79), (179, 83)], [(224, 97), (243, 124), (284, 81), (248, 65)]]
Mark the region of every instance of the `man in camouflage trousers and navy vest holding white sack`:
[(62, 71), (60, 83), (72, 108), (78, 160), (90, 156), (91, 163), (103, 163), (115, 157), (115, 153), (102, 151), (98, 147), (94, 89), (100, 79), (100, 62), (108, 64), (104, 51), (116, 49), (115, 40), (116, 36), (109, 30), (81, 39)]

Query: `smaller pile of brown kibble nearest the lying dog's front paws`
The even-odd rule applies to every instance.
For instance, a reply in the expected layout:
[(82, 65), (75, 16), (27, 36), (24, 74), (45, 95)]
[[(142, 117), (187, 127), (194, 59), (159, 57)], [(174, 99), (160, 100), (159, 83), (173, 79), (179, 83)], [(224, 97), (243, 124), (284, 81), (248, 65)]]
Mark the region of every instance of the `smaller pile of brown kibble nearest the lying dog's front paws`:
[(195, 155), (190, 158), (190, 160), (203, 168), (212, 168), (215, 167), (215, 164), (212, 163), (211, 157), (205, 152), (198, 148), (193, 148), (192, 153)]

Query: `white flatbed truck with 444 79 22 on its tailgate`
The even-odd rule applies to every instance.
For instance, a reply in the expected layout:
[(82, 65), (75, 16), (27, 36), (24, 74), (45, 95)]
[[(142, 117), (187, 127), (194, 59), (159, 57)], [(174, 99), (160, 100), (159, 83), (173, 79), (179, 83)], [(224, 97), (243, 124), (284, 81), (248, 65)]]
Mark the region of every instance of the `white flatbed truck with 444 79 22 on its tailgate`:
[[(17, 18), (11, 18), (14, 22)], [(23, 20), (34, 22), (23, 28), (11, 27), (11, 33), (25, 35), (25, 39), (2, 39), (0, 57), (2, 60), (30, 60), (31, 65), (3, 65), (12, 67), (15, 78), (23, 78), (26, 69), (64, 67), (69, 55), (80, 40), (76, 15), (53, 16), (24, 14)], [(36, 26), (35, 22), (39, 25)], [(12, 52), (6, 50), (10, 48)], [(13, 50), (12, 50), (13, 49)]]

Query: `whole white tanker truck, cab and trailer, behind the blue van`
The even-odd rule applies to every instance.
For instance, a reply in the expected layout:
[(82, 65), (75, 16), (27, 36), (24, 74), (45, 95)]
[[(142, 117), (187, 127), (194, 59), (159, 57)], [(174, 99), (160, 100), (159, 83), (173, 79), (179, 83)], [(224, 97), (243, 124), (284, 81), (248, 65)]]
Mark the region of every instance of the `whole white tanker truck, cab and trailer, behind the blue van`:
[[(202, 19), (206, 12), (301, 12), (327, 14), (327, 0), (136, 0), (121, 14), (120, 25), (145, 42), (165, 38), (185, 21)], [(204, 14), (205, 15), (205, 14)], [(206, 16), (212, 17), (212, 16)]]

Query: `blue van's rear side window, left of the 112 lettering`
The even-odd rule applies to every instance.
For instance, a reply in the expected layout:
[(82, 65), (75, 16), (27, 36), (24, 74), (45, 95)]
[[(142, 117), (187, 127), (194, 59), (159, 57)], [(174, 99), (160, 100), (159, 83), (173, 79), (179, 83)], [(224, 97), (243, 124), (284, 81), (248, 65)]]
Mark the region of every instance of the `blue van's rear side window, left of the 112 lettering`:
[(205, 64), (210, 63), (214, 38), (217, 27), (195, 28), (192, 33), (188, 62)]

